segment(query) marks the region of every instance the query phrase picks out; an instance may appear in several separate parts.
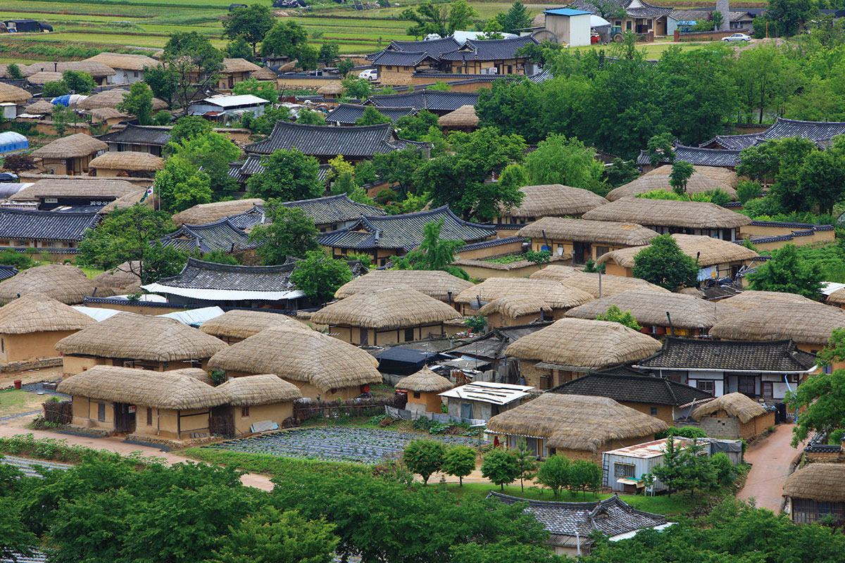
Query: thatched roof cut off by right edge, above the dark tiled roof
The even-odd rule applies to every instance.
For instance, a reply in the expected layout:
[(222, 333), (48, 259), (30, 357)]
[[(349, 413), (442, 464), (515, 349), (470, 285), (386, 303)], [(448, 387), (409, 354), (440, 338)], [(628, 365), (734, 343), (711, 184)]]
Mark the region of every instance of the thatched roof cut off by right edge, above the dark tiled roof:
[[(730, 300), (728, 300), (730, 304)], [(834, 328), (845, 327), (845, 311), (821, 303), (774, 301), (717, 322), (711, 336), (722, 340), (783, 340), (824, 346)]]

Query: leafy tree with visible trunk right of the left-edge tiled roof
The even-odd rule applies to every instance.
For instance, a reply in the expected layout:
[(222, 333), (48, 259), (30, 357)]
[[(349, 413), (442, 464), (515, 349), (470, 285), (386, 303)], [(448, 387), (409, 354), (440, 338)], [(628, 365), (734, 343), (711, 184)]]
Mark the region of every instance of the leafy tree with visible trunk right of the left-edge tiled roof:
[(77, 263), (111, 269), (129, 261), (132, 273), (149, 284), (155, 281), (145, 269), (152, 248), (150, 242), (173, 230), (171, 215), (166, 211), (155, 211), (143, 203), (115, 209), (94, 229), (85, 231), (85, 238), (79, 243)]

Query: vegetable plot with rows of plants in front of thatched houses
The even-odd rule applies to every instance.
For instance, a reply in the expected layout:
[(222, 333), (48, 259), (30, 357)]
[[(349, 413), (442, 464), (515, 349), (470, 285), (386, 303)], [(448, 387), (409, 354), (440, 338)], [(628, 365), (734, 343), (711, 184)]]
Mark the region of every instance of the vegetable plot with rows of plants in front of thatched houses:
[(466, 436), (423, 436), (394, 430), (328, 427), (285, 430), (203, 447), (329, 462), (374, 464), (400, 457), (409, 441), (423, 437), (442, 441), (447, 446), (478, 444), (477, 438)]

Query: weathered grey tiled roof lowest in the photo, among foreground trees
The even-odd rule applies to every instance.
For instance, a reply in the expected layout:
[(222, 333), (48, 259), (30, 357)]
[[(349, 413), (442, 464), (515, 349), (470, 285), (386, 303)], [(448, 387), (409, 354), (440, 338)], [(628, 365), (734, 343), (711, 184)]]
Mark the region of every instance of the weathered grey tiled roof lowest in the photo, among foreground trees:
[(488, 499), (512, 505), (527, 502), (526, 512), (539, 520), (553, 535), (581, 536), (586, 543), (591, 533), (598, 531), (608, 536), (654, 528), (667, 523), (666, 517), (636, 510), (613, 495), (597, 502), (526, 501), (515, 496), (490, 491)]

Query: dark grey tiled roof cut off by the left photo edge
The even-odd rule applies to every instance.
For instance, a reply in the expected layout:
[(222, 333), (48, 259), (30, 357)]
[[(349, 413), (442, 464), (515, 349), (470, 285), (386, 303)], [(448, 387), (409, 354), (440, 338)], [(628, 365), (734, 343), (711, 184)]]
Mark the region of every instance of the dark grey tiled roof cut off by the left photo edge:
[(25, 241), (81, 241), (100, 220), (96, 211), (69, 213), (0, 208), (0, 238)]

